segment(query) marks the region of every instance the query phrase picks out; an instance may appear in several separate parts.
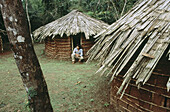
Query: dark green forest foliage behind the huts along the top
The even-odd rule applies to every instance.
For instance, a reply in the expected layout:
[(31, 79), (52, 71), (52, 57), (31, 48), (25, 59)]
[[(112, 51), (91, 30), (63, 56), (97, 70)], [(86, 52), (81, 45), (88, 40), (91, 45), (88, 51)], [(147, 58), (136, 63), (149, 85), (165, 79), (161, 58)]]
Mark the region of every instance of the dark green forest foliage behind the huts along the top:
[[(54, 21), (74, 9), (78, 9), (94, 18), (113, 23), (121, 17), (125, 0), (27, 0), (32, 31)], [(127, 0), (125, 14), (137, 0)], [(114, 5), (115, 4), (115, 7)], [(23, 0), (25, 8), (25, 0)], [(5, 29), (2, 16), (0, 29)]]

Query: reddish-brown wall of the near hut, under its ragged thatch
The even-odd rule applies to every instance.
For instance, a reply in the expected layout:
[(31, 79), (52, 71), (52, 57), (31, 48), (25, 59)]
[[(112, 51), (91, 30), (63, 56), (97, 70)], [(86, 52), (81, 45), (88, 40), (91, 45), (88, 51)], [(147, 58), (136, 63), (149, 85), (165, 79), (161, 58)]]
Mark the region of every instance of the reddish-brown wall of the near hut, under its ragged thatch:
[(116, 93), (123, 82), (123, 75), (117, 76), (111, 86), (111, 104), (117, 111), (123, 112), (170, 112), (170, 92), (166, 88), (169, 68), (170, 63), (164, 57), (148, 82), (138, 89), (135, 80), (132, 80), (122, 99)]

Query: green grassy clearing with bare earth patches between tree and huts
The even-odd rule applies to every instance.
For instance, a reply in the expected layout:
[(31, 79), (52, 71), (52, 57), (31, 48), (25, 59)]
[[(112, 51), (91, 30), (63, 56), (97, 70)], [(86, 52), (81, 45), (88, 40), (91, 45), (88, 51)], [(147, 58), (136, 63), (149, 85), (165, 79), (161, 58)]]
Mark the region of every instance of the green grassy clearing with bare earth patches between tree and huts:
[[(109, 78), (95, 75), (96, 63), (71, 64), (46, 58), (35, 45), (55, 112), (114, 112), (109, 105)], [(26, 92), (12, 57), (0, 55), (0, 112), (27, 112)]]

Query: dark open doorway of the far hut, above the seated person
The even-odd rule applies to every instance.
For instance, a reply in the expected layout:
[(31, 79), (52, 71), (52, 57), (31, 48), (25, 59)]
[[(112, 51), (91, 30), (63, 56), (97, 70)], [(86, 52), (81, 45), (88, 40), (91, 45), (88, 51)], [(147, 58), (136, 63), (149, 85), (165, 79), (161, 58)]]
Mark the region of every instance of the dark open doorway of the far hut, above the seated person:
[(81, 45), (81, 34), (74, 35), (71, 40), (72, 40), (72, 50), (73, 50), (77, 45)]

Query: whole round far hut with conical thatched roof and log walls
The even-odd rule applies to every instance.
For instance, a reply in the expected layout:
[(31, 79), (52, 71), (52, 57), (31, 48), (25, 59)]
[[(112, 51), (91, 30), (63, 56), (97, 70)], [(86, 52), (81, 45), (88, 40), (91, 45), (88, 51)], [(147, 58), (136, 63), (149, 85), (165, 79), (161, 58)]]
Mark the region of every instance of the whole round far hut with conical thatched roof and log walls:
[(52, 58), (69, 59), (79, 44), (84, 54), (94, 44), (93, 36), (108, 24), (87, 16), (78, 10), (59, 18), (33, 32), (35, 39), (45, 40), (45, 54)]

